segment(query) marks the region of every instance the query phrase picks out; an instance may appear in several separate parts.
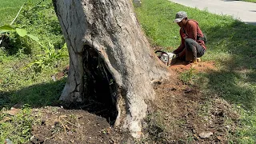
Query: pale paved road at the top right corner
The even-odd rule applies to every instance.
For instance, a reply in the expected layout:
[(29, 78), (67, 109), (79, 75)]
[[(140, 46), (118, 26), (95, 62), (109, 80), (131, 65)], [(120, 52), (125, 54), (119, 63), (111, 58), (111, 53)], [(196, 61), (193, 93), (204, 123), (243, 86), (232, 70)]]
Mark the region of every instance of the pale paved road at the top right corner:
[(234, 0), (170, 0), (184, 6), (207, 9), (214, 14), (227, 14), (242, 22), (256, 25), (256, 3)]

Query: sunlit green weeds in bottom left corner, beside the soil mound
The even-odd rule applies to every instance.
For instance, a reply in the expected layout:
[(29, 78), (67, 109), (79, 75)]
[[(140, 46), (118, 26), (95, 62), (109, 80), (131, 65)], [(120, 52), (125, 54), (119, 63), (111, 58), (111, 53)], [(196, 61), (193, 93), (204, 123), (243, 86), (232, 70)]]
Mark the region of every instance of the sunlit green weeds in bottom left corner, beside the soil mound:
[(6, 110), (3, 109), (0, 113), (0, 121), (2, 121), (0, 123), (0, 142), (4, 143), (6, 138), (9, 138), (13, 143), (28, 142), (31, 137), (32, 122), (34, 121), (30, 115), (30, 108), (25, 107), (14, 116), (5, 112)]

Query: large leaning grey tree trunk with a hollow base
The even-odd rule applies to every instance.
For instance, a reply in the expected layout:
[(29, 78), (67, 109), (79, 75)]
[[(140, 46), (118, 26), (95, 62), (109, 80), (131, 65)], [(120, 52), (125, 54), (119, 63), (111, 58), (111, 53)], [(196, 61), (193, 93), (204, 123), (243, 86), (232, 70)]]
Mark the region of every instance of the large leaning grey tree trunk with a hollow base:
[[(152, 82), (170, 72), (151, 50), (130, 0), (53, 0), (70, 54), (61, 100), (114, 106), (114, 126), (139, 137)], [(110, 105), (109, 105), (110, 106)]]

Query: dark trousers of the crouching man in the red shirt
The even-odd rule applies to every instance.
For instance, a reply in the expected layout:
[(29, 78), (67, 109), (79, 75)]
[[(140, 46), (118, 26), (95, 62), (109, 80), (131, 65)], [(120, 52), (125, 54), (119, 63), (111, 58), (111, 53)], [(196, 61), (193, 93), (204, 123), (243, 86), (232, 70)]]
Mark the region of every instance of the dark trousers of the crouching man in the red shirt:
[(205, 49), (191, 38), (185, 39), (185, 49), (186, 61), (196, 61), (196, 58), (200, 58), (205, 54)]

